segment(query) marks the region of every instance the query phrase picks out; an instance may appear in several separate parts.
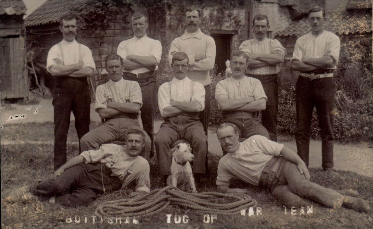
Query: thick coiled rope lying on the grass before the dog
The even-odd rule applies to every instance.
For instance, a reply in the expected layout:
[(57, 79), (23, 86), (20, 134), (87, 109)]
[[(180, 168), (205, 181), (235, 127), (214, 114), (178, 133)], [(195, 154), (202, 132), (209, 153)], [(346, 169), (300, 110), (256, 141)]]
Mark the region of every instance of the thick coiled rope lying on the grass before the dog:
[[(225, 204), (213, 202), (214, 199), (222, 197), (233, 198), (236, 201)], [(258, 202), (243, 193), (189, 193), (173, 186), (167, 186), (154, 189), (141, 197), (104, 202), (96, 208), (95, 214), (124, 217), (151, 216), (171, 204), (191, 208), (197, 213), (228, 215), (240, 213), (244, 208), (256, 207)]]

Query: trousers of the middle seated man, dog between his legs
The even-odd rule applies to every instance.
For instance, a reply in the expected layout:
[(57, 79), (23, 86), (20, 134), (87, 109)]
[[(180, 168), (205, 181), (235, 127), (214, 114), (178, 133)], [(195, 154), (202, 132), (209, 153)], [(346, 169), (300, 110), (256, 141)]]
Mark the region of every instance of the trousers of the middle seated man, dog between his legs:
[(206, 173), (207, 136), (198, 119), (178, 115), (167, 118), (161, 125), (155, 140), (159, 175), (171, 175), (170, 146), (183, 138), (191, 143), (193, 149), (193, 173)]

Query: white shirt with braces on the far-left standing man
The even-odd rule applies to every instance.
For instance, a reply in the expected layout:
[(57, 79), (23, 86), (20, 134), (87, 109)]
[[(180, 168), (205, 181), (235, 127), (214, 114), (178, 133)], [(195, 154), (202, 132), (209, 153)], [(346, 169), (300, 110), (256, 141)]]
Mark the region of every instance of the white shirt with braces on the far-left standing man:
[[(50, 73), (50, 67), (52, 65), (56, 65), (57, 63), (53, 60), (55, 58), (60, 59), (64, 65), (73, 65), (76, 63), (79, 63), (79, 43), (74, 41), (65, 41), (62, 40), (61, 42), (62, 45), (62, 51), (63, 51), (63, 59), (62, 59), (62, 54), (59, 48), (58, 44), (55, 44), (53, 47), (48, 52), (48, 57), (47, 57), (47, 71)], [(93, 70), (96, 69), (96, 66), (93, 61), (92, 57), (92, 52), (91, 50), (81, 44), (81, 55), (82, 55), (82, 60), (84, 63), (84, 67), (91, 68)]]

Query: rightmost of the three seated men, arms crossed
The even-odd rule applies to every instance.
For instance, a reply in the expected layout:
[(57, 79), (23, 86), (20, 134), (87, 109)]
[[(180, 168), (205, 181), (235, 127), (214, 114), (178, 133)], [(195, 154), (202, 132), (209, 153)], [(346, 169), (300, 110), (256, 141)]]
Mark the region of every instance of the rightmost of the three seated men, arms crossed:
[(232, 76), (217, 83), (215, 98), (223, 112), (223, 122), (237, 125), (241, 138), (258, 134), (269, 139), (268, 131), (256, 117), (257, 112), (266, 109), (267, 96), (258, 79), (245, 76), (248, 58), (242, 51), (233, 53)]

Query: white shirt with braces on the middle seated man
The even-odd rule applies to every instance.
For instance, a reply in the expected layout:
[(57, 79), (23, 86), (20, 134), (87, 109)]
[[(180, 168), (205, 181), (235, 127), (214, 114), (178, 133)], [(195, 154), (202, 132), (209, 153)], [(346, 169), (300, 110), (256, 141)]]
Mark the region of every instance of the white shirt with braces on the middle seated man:
[[(170, 107), (170, 101), (181, 101), (181, 102), (189, 102), (189, 101), (197, 101), (201, 104), (201, 110), (205, 109), (205, 88), (199, 82), (192, 83), (194, 85), (193, 89), (191, 90), (191, 80), (188, 77), (185, 77), (182, 80), (176, 79), (175, 77), (171, 81), (171, 95), (170, 95), (170, 88), (169, 82), (165, 82), (159, 87), (158, 90), (158, 107), (159, 111), (163, 116), (163, 110), (166, 107)], [(191, 95), (192, 91), (192, 95)]]

